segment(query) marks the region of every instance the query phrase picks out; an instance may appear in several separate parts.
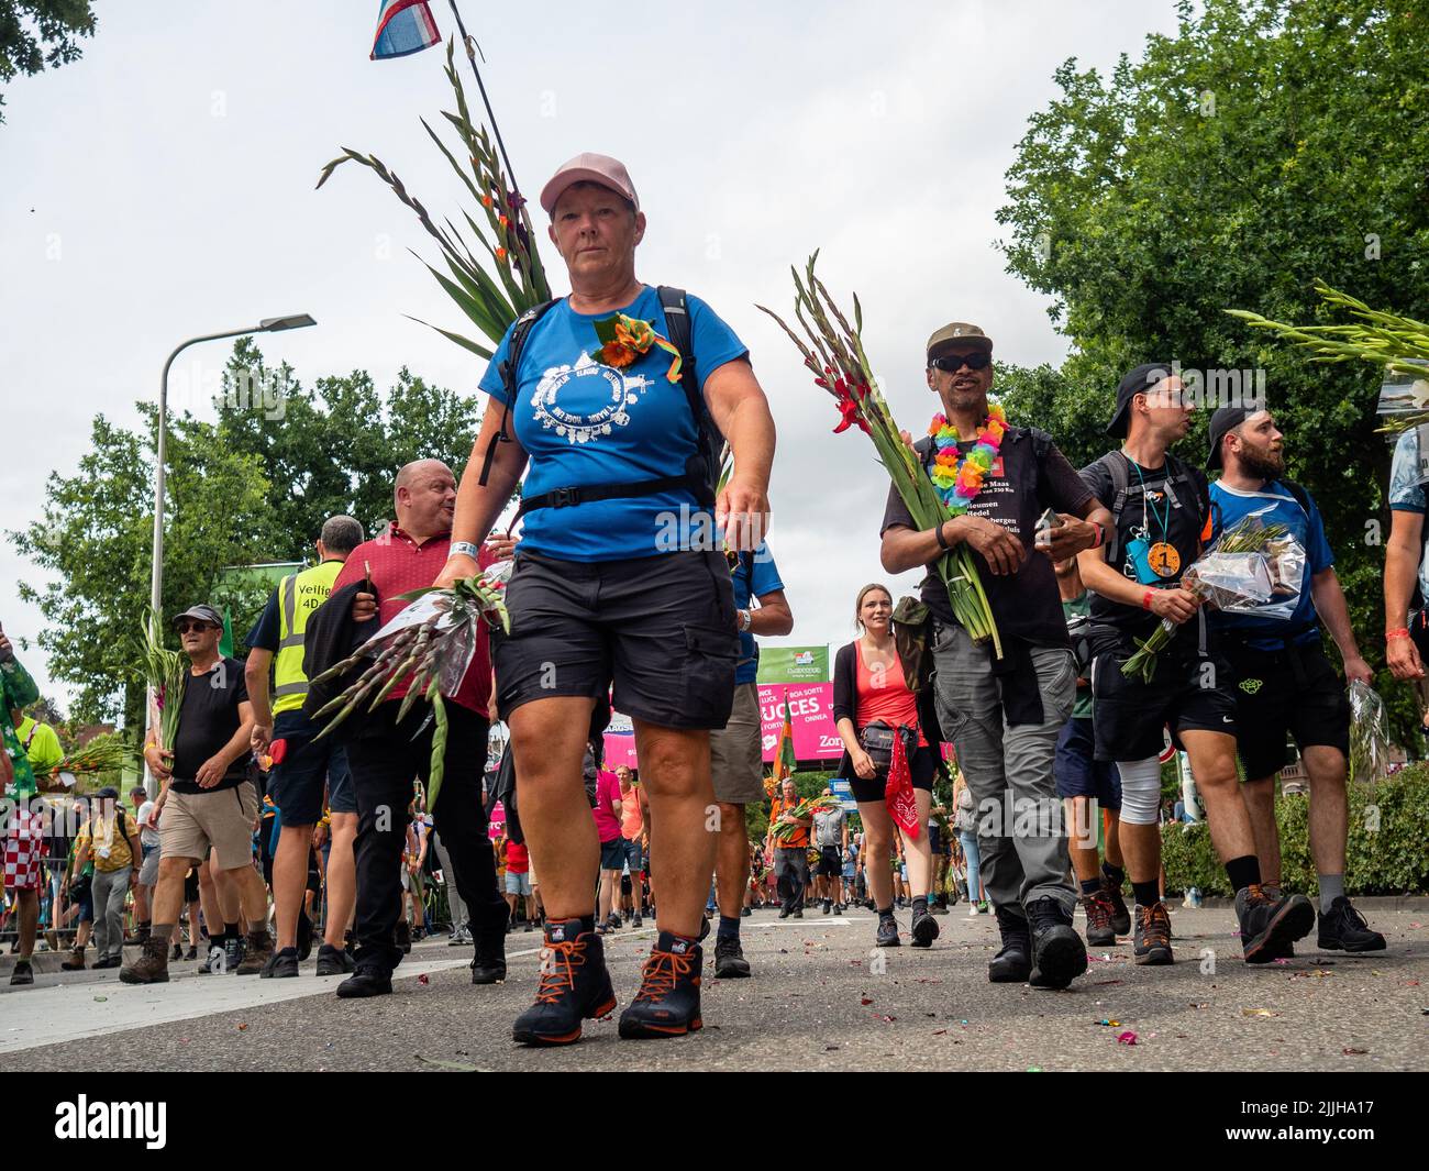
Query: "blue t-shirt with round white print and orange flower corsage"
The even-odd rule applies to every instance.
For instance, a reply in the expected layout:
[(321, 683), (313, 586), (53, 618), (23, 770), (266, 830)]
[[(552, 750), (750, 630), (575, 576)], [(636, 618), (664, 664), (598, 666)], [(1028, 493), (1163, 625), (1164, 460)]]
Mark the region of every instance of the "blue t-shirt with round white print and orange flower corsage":
[[(686, 305), (694, 376), (703, 390), (712, 372), (749, 349), (699, 297), (687, 296)], [(649, 285), (619, 312), (670, 336), (660, 295)], [(624, 370), (596, 360), (596, 322), (612, 316), (577, 313), (562, 299), (526, 336), (517, 396), (510, 403), (512, 433), (530, 455), (524, 496), (679, 476), (697, 450), (697, 425), (684, 389), (666, 377), (669, 352), (652, 346)], [(510, 340), (507, 330), (480, 383), (496, 409), (506, 403), (502, 363)], [(687, 546), (686, 539), (670, 542), (672, 518), (682, 516), (682, 506), (683, 516), (699, 512), (694, 496), (683, 489), (534, 509), (524, 516), (520, 548), (579, 562), (656, 556)]]

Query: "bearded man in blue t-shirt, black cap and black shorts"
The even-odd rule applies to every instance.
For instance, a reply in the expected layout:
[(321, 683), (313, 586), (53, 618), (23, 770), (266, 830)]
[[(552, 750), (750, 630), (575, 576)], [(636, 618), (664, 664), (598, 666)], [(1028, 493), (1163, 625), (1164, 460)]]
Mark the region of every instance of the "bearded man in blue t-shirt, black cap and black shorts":
[(1310, 779), (1310, 856), (1319, 875), (1319, 947), (1328, 951), (1383, 951), (1345, 896), (1349, 804), (1349, 699), (1325, 655), (1320, 619), (1339, 646), (1345, 675), (1375, 678), (1359, 653), (1349, 606), (1335, 573), (1335, 555), (1310, 493), (1285, 478), (1285, 436), (1269, 410), (1223, 406), (1210, 416), (1210, 459), (1220, 479), (1210, 485), (1212, 538), (1255, 513), (1283, 525), (1305, 556), (1293, 606), (1275, 599), (1255, 613), (1213, 611), (1210, 628), (1235, 671), (1236, 725), (1245, 766), (1246, 808), (1255, 828), (1263, 885), (1280, 888), (1280, 835), (1275, 824), (1275, 781), (1285, 766), (1285, 738), (1295, 745)]

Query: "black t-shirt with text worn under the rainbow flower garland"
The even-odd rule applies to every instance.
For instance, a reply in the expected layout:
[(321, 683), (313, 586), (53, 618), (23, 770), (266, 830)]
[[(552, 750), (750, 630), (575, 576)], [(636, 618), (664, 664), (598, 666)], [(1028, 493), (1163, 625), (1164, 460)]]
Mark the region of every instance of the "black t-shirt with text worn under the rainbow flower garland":
[[(1012, 635), (1039, 646), (1067, 646), (1062, 595), (1057, 592), (1052, 562), (1046, 553), (1036, 552), (1032, 542), (1037, 535), (1037, 518), (1046, 509), (1080, 515), (1092, 493), (1050, 438), (1045, 442), (1046, 456), (1039, 463), (1032, 429), (1009, 428), (997, 460), (983, 479), (982, 490), (967, 506), (967, 513), (1002, 525), (1027, 550), (1022, 568), (1012, 575), (993, 573), (982, 555), (973, 550), (973, 560), (977, 563), (999, 635)], [(925, 438), (913, 446), (926, 462), (933, 440)], [(957, 445), (963, 455), (972, 448), (972, 442)], [(883, 533), (893, 525), (915, 530), (919, 528), (913, 523), (903, 498), (890, 485), (883, 526), (879, 532)], [(937, 576), (936, 565), (927, 566), (927, 576), (919, 586), (919, 595), (942, 622), (956, 622), (953, 603), (947, 599), (947, 586)]]

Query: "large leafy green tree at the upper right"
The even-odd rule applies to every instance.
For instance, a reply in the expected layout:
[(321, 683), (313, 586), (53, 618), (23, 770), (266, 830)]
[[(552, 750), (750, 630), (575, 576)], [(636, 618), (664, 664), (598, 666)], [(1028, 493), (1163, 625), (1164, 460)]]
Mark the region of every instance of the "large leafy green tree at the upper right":
[[(1316, 366), (1226, 309), (1319, 322), (1316, 277), (1390, 312), (1429, 302), (1429, 10), (1370, 0), (1208, 0), (1109, 77), (1066, 61), (1032, 116), (999, 222), (1009, 270), (1050, 295), (1060, 370), (1003, 370), (1009, 415), (1053, 420), (1073, 462), (1107, 450), (1139, 362), (1266, 372), (1289, 475), (1325, 515), (1355, 629), (1383, 659), (1378, 373)], [(1183, 455), (1206, 453), (1206, 415)], [(1373, 543), (1372, 543), (1373, 542)], [(1418, 722), (1379, 676), (1395, 731)]]

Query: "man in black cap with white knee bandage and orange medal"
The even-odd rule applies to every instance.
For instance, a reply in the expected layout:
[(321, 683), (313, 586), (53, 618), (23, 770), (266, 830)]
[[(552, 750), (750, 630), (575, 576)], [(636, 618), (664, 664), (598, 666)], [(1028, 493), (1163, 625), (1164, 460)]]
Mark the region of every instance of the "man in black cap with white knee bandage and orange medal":
[[(1265, 964), (1315, 925), (1305, 895), (1272, 898), (1260, 884), (1255, 834), (1236, 776), (1236, 701), (1230, 666), (1216, 653), (1182, 573), (1210, 535), (1210, 499), (1199, 469), (1169, 448), (1190, 429), (1192, 405), (1166, 363), (1136, 366), (1116, 390), (1107, 433), (1122, 449), (1082, 469), (1087, 489), (1116, 518), (1103, 548), (1079, 556), (1092, 598), (1092, 696), (1096, 759), (1122, 774), (1122, 852), (1136, 895), (1137, 964), (1170, 964), (1170, 919), (1160, 899), (1163, 728), (1190, 756), (1210, 838), (1236, 892), (1246, 962)], [(1122, 665), (1163, 622), (1177, 626), (1150, 681)]]

